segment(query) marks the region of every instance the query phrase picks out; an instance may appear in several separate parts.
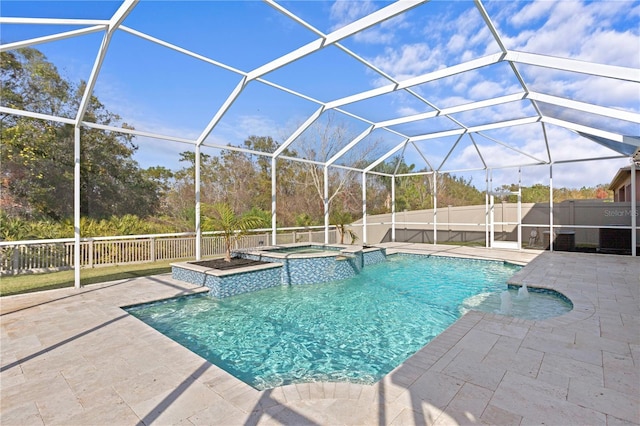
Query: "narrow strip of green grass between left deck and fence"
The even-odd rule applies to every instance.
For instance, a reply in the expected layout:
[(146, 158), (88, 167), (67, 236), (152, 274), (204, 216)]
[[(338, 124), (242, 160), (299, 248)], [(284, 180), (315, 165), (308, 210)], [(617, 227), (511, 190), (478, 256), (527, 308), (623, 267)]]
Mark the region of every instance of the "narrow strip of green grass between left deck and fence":
[[(106, 281), (137, 278), (171, 272), (172, 262), (167, 260), (155, 263), (135, 265), (118, 265), (101, 268), (86, 268), (80, 271), (82, 285), (102, 283)], [(0, 296), (29, 293), (32, 291), (52, 290), (54, 288), (73, 287), (74, 271), (60, 271), (49, 274), (24, 274), (0, 278)]]

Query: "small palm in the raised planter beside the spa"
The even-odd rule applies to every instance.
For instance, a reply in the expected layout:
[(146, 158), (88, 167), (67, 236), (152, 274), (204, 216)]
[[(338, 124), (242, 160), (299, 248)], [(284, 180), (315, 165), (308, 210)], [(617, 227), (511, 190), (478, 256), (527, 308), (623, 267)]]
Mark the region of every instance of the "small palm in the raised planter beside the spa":
[(227, 203), (203, 206), (204, 223), (209, 229), (222, 231), (226, 254), (224, 260), (231, 262), (231, 247), (249, 230), (264, 226), (264, 218), (254, 215), (238, 216)]

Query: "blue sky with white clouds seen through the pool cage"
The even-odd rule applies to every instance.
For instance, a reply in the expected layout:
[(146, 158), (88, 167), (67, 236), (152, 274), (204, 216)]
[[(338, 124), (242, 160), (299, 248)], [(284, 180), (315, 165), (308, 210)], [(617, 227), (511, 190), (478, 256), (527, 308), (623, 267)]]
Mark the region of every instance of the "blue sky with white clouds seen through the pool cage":
[[(367, 13), (388, 5), (371, 1), (283, 1), (282, 7), (323, 33), (330, 33)], [(640, 2), (638, 1), (486, 1), (483, 3), (508, 49), (595, 63), (640, 68)], [(4, 17), (108, 19), (119, 2), (106, 1), (2, 1)], [(243, 72), (251, 71), (297, 49), (317, 35), (280, 11), (258, 1), (142, 1), (124, 25), (207, 56)], [(79, 27), (2, 25), (3, 43), (68, 31)], [(34, 46), (47, 55), (59, 71), (74, 82), (91, 72), (102, 33)], [(345, 39), (342, 46), (369, 61), (391, 78), (402, 81), (460, 62), (499, 52), (499, 46), (484, 26), (472, 1), (432, 1), (407, 13)], [(581, 102), (640, 112), (637, 83), (541, 69), (518, 67), (529, 89)], [(321, 102), (390, 84), (390, 80), (329, 46), (293, 64), (270, 72), (264, 78)], [(107, 108), (136, 129), (195, 139), (233, 88), (240, 76), (233, 71), (190, 58), (155, 45), (135, 35), (118, 31), (113, 37), (98, 78), (95, 94)], [(416, 95), (438, 108), (462, 105), (521, 91), (506, 63), (458, 74), (413, 87)], [(240, 145), (250, 135), (272, 136), (283, 141), (318, 105), (279, 91), (258, 81), (244, 89), (208, 137), (217, 144)], [(431, 111), (416, 96), (393, 92), (345, 105), (345, 111), (371, 120), (387, 120), (405, 114)], [(580, 113), (566, 115), (541, 104), (543, 112), (571, 118), (605, 130), (640, 134), (639, 125)], [(453, 114), (467, 126), (535, 114), (528, 101), (502, 104), (473, 113)], [(564, 115), (563, 115), (564, 114)], [(338, 115), (350, 135), (367, 124)], [(323, 118), (324, 119), (324, 118)], [(322, 121), (321, 119), (320, 121)], [(395, 126), (409, 136), (456, 125), (439, 117)], [(612, 155), (611, 151), (587, 143), (573, 133), (548, 126), (554, 160)], [(293, 144), (303, 150), (311, 134)], [(535, 158), (546, 158), (540, 125), (525, 125), (485, 133), (476, 138), (487, 162), (527, 162), (529, 157), (505, 149), (496, 141), (516, 147)], [(440, 138), (419, 145), (437, 167), (447, 156), (455, 138)], [(402, 140), (389, 132), (376, 131), (362, 144), (375, 144), (385, 152)], [(162, 164), (179, 167), (177, 153), (188, 145), (137, 138), (137, 159), (143, 167)], [(210, 150), (215, 154), (216, 150)], [(425, 166), (416, 152), (406, 151), (407, 161)], [(511, 162), (511, 163), (509, 163)], [(580, 187), (609, 182), (626, 160), (557, 166), (554, 185)], [(449, 156), (445, 169), (482, 166), (469, 138), (463, 138)], [(594, 171), (596, 171), (594, 173)], [(527, 168), (525, 184), (547, 183), (547, 167)], [(469, 174), (474, 182), (484, 173)], [(494, 181), (511, 183), (513, 172), (496, 170)]]

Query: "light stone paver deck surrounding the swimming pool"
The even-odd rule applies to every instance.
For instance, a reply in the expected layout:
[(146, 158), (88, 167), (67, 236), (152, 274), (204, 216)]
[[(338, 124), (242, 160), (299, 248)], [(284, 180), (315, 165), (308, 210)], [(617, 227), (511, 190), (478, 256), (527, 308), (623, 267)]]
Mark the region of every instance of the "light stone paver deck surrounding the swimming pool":
[(0, 299), (0, 424), (638, 425), (640, 259), (385, 244), (528, 264), (574, 309), (470, 312), (375, 385), (257, 391), (121, 306), (203, 291), (170, 274)]

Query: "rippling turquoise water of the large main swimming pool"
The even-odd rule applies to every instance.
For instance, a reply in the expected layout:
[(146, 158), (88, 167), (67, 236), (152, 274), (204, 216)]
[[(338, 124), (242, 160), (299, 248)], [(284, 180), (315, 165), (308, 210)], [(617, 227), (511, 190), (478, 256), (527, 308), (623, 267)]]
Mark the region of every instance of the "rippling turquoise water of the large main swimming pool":
[[(470, 308), (465, 301), (499, 300), (519, 269), (464, 259), (389, 259), (343, 281), (225, 299), (187, 296), (127, 310), (259, 390), (313, 381), (372, 384), (462, 316)], [(530, 300), (536, 296), (530, 293)], [(571, 309), (556, 299), (554, 315)]]

